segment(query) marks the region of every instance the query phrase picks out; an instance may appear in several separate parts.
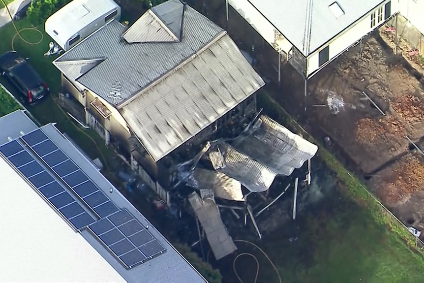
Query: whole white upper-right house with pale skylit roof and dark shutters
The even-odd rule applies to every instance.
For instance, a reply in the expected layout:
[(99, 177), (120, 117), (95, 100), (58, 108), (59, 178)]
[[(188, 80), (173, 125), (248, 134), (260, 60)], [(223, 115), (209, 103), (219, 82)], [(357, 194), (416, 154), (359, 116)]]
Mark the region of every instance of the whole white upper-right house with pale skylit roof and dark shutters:
[(400, 12), (424, 33), (421, 0), (228, 0), (309, 79)]

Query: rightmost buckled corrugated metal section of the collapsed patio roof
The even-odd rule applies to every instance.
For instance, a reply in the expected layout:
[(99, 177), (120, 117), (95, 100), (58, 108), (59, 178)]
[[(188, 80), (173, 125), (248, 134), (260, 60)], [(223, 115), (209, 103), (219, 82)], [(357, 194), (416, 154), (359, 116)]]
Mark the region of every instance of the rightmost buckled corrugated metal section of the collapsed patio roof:
[(318, 151), (318, 146), (265, 115), (250, 128), (248, 135), (238, 137), (232, 145), (285, 176), (292, 174), (294, 169), (301, 168)]

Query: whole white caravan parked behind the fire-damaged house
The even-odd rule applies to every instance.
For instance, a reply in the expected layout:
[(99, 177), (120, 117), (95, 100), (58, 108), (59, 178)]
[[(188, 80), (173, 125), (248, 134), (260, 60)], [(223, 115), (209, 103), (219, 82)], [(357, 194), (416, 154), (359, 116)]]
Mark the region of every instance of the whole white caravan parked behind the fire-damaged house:
[(44, 29), (66, 51), (107, 22), (120, 18), (121, 7), (114, 0), (73, 0), (51, 15)]

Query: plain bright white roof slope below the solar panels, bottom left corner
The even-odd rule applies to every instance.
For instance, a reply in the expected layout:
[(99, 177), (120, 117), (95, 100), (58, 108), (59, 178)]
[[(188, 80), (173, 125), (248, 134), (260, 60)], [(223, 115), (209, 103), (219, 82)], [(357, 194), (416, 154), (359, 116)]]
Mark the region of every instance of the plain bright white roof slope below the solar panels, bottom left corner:
[(0, 158), (0, 282), (125, 282)]

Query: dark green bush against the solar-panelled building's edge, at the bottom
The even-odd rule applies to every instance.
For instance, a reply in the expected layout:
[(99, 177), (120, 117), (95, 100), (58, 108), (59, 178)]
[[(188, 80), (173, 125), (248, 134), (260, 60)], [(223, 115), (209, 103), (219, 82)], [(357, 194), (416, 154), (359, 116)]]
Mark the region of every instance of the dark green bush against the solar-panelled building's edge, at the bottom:
[(221, 283), (222, 276), (219, 270), (213, 269), (211, 264), (204, 262), (197, 253), (192, 252), (190, 247), (181, 243), (174, 243), (174, 247), (182, 253), (182, 255), (187, 259), (194, 268), (197, 269), (209, 283)]

